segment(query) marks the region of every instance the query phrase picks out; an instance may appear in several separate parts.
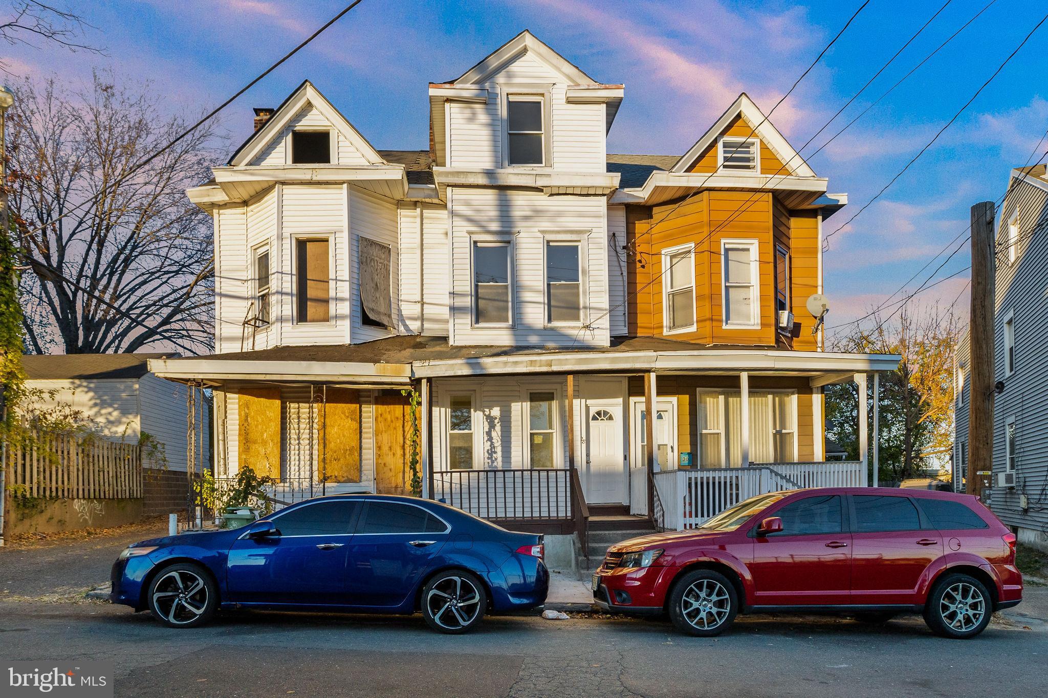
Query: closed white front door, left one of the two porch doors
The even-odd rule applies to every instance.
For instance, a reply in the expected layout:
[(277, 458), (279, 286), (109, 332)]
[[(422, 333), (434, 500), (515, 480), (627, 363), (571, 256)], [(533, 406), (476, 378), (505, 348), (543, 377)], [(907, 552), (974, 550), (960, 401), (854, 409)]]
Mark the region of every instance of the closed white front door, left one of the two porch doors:
[(623, 448), (623, 402), (586, 407), (586, 463), (583, 468), (586, 501), (620, 504), (626, 500), (626, 459)]

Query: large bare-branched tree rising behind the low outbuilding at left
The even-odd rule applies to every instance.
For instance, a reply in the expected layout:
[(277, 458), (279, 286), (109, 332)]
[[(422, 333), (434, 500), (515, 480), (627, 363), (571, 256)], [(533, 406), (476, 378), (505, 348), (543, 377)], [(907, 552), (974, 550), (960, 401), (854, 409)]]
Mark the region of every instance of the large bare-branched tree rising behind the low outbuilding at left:
[[(148, 85), (108, 73), (70, 91), (24, 82), (9, 112), (10, 202), (27, 350), (134, 352), (212, 343), (211, 219), (185, 188), (216, 157), (205, 125), (139, 167), (187, 126)], [(115, 307), (115, 308), (114, 308)], [(165, 338), (161, 338), (163, 335)]]

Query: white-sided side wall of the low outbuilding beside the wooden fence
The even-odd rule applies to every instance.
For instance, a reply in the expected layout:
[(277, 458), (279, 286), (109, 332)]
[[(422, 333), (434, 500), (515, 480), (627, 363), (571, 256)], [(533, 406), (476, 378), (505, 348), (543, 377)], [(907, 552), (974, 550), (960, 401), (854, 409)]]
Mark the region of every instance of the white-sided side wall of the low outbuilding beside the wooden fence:
[[(138, 379), (138, 409), (141, 413), (141, 431), (150, 434), (163, 446), (163, 455), (170, 470), (187, 469), (189, 388), (180, 383), (166, 381), (153, 374)], [(196, 414), (196, 467), (212, 467), (211, 406), (197, 393)], [(150, 464), (147, 464), (150, 465)]]

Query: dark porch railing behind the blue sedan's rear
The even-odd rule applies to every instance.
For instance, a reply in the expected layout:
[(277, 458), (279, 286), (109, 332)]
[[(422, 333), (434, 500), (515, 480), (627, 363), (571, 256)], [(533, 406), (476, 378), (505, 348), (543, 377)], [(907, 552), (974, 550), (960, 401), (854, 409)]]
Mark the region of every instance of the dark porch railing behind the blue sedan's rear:
[(572, 519), (571, 470), (444, 470), (433, 498), (485, 519)]

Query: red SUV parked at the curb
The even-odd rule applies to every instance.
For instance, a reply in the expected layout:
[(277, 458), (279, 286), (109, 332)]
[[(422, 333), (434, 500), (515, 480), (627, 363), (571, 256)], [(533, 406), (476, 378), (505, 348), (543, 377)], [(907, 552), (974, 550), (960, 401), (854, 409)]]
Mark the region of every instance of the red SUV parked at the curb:
[(922, 611), (933, 631), (974, 637), (1022, 600), (1016, 536), (976, 497), (885, 488), (776, 492), (701, 528), (608, 549), (593, 595), (613, 612), (669, 612), (717, 635), (739, 612), (833, 611), (882, 623)]

